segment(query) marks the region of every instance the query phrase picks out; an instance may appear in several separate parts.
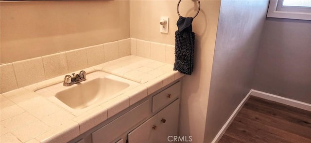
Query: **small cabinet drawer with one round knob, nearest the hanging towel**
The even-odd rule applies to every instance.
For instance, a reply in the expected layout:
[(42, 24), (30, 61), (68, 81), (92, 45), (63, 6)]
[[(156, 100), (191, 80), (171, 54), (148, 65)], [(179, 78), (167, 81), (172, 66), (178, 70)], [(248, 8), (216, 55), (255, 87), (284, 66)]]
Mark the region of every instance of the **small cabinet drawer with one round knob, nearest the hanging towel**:
[(155, 113), (163, 106), (168, 105), (171, 101), (175, 100), (180, 94), (180, 90), (181, 82), (178, 82), (152, 97), (152, 112)]

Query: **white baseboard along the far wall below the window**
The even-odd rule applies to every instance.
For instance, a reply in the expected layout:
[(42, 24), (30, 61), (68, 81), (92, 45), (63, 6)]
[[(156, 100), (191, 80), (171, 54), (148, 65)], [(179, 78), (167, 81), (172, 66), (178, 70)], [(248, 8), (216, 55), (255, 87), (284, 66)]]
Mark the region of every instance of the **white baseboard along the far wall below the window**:
[(297, 108), (304, 109), (307, 111), (311, 111), (311, 104), (308, 104), (305, 102), (284, 98), (281, 96), (277, 96), (274, 94), (270, 94), (270, 93), (266, 93), (266, 92), (262, 92), (262, 91), (258, 91), (258, 90), (254, 90), (254, 89), (252, 90), (251, 95), (259, 97), (259, 98), (263, 98), (266, 100), (276, 101), (276, 102), (279, 102), (282, 104), (297, 107)]

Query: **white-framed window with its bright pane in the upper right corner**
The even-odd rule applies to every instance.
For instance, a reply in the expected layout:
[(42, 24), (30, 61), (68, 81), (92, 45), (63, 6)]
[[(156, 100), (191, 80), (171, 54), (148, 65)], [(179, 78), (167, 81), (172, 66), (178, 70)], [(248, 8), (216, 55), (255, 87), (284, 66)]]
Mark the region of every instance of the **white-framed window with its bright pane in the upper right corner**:
[(267, 17), (311, 20), (311, 0), (270, 0)]

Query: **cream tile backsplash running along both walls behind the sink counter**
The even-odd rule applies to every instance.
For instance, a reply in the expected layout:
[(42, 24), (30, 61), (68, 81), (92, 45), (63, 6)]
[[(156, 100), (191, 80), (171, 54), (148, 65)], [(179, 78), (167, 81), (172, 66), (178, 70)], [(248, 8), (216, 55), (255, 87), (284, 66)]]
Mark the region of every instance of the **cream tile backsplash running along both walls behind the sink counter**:
[[(79, 71), (87, 67), (99, 65), (129, 55), (160, 61), (158, 63), (151, 63), (148, 67), (150, 69), (156, 69), (161, 66), (163, 62), (173, 64), (174, 51), (174, 45), (128, 38), (43, 57), (7, 63), (0, 65), (0, 93), (29, 86), (46, 79)], [(126, 67), (126, 65), (122, 66)], [(140, 64), (138, 63), (137, 66), (139, 68)], [(133, 66), (131, 65), (131, 67)], [(118, 66), (118, 68), (120, 67)], [(114, 69), (111, 70), (113, 71)], [(146, 67), (140, 70), (143, 72), (146, 72), (146, 70), (148, 71)], [(130, 69), (124, 68), (123, 74), (130, 71)]]

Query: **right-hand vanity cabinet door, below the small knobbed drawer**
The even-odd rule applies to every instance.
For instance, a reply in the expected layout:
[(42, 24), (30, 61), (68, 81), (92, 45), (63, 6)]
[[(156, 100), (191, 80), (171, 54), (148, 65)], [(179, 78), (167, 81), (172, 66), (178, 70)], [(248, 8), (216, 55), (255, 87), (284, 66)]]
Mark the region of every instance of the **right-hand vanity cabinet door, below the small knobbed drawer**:
[(178, 117), (179, 117), (179, 99), (175, 100), (169, 106), (164, 108), (157, 114), (157, 143), (175, 143), (169, 142), (173, 140), (172, 136), (178, 135)]

